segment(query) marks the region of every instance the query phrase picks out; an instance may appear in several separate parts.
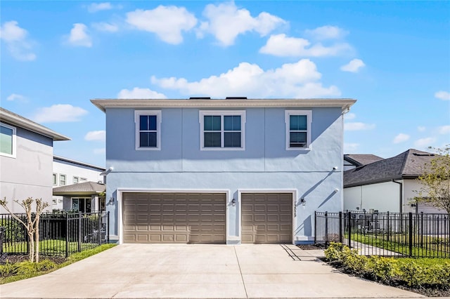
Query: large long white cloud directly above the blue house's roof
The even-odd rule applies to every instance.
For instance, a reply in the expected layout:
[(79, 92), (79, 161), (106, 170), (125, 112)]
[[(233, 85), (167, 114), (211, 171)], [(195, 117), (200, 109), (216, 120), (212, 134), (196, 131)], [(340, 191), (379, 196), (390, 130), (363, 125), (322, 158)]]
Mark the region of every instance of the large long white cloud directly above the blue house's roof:
[(323, 87), (321, 73), (314, 62), (302, 59), (286, 63), (277, 69), (264, 71), (259, 65), (241, 62), (228, 72), (189, 82), (184, 78), (151, 77), (153, 84), (178, 90), (186, 95), (209, 95), (224, 98), (226, 95), (248, 98), (319, 98), (340, 95), (336, 86)]

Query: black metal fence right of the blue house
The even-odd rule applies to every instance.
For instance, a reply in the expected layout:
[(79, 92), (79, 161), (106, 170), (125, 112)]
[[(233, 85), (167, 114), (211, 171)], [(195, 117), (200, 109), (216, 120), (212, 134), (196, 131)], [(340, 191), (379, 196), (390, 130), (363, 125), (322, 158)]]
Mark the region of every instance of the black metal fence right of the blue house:
[(362, 255), (450, 258), (449, 214), (315, 212), (314, 241), (340, 242)]

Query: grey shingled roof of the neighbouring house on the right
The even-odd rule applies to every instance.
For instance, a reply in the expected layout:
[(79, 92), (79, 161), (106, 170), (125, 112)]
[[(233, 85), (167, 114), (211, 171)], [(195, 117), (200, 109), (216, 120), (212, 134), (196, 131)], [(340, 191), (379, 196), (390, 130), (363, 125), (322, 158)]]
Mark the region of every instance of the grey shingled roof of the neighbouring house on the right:
[(436, 156), (430, 152), (407, 150), (401, 154), (371, 164), (344, 171), (344, 187), (370, 185), (403, 178), (418, 178), (425, 164)]

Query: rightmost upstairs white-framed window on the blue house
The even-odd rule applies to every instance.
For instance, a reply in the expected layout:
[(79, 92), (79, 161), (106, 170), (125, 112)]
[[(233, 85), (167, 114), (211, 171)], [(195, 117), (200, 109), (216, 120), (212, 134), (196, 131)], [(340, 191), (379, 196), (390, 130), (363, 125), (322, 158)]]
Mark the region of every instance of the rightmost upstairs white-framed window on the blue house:
[(286, 150), (311, 150), (311, 110), (286, 110)]

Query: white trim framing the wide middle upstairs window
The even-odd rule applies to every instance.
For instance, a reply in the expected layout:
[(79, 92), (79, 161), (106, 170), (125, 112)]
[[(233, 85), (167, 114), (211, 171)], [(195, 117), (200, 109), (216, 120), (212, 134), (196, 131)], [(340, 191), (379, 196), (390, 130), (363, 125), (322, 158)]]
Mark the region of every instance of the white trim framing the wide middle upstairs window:
[[(221, 147), (205, 147), (204, 117), (221, 117)], [(224, 116), (240, 116), (240, 147), (224, 147)], [(200, 123), (200, 150), (201, 151), (229, 151), (245, 150), (245, 110), (200, 110), (198, 112), (198, 121)], [(233, 131), (230, 131), (233, 132)]]

